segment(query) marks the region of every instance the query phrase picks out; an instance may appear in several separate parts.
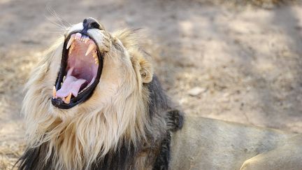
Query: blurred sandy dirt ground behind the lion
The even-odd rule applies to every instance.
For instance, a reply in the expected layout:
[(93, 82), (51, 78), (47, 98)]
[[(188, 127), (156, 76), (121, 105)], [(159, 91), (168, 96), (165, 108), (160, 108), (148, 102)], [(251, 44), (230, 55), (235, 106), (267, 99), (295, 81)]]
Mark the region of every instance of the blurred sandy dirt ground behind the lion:
[(302, 6), (197, 0), (0, 0), (0, 169), (24, 149), (22, 87), (71, 24), (143, 28), (159, 79), (185, 113), (302, 133)]

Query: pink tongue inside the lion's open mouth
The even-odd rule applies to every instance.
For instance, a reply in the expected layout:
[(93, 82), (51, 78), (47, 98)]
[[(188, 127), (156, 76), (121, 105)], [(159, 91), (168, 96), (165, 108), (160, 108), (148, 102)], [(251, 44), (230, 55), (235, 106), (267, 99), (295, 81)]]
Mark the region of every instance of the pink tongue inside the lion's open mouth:
[(67, 97), (70, 93), (72, 93), (74, 97), (78, 96), (80, 87), (86, 82), (86, 80), (82, 78), (78, 79), (74, 76), (71, 76), (72, 71), (73, 69), (69, 69), (66, 75), (66, 80), (64, 80), (61, 89), (57, 91), (57, 97)]

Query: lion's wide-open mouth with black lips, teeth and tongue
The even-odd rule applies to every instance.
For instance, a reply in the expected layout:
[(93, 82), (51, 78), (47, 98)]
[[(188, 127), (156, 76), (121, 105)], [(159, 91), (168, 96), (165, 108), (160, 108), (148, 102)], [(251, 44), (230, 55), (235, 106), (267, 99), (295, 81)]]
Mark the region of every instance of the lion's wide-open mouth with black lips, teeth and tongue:
[(103, 57), (93, 38), (75, 32), (64, 42), (59, 75), (52, 92), (57, 108), (72, 108), (91, 97), (99, 83)]

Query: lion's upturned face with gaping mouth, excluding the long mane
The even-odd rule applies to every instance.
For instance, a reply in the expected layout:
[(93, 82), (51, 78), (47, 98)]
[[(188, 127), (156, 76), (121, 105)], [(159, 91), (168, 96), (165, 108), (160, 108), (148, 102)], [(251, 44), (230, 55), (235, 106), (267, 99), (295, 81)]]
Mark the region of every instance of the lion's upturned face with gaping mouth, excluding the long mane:
[(116, 95), (129, 95), (121, 94), (121, 89), (127, 88), (127, 93), (131, 93), (139, 86), (137, 83), (148, 83), (152, 77), (145, 73), (142, 77), (141, 65), (135, 63), (140, 61), (129, 55), (118, 37), (92, 18), (66, 30), (64, 42), (57, 50), (62, 55), (53, 59), (50, 73), (54, 77), (49, 80), (56, 80), (49, 84), (54, 84), (52, 105), (60, 109), (80, 107), (83, 102), (90, 109), (101, 108)]

